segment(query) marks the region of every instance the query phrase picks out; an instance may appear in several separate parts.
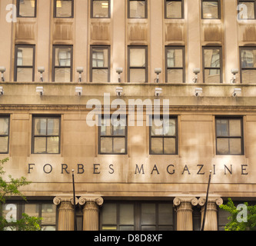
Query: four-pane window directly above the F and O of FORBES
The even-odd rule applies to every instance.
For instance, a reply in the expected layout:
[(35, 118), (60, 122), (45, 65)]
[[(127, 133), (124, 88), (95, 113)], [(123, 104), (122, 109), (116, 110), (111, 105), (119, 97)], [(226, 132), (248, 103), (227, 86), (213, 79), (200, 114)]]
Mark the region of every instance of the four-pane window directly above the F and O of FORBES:
[(33, 154), (59, 154), (60, 117), (33, 117)]

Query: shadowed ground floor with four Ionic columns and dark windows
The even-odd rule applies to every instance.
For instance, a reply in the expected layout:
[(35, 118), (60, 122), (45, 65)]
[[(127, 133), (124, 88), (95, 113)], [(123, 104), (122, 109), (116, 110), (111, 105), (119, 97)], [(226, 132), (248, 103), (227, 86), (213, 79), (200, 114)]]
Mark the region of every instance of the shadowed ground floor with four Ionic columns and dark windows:
[[(22, 213), (40, 217), (42, 231), (199, 231), (203, 218), (205, 231), (223, 231), (228, 212), (219, 206), (228, 198), (210, 195), (204, 217), (205, 200), (191, 196), (109, 198), (85, 194), (75, 198), (74, 206), (72, 195), (30, 197), (27, 201), (6, 201), (1, 213), (8, 222), (22, 218)], [(234, 198), (235, 204), (244, 201)], [(254, 198), (246, 201), (255, 202)]]

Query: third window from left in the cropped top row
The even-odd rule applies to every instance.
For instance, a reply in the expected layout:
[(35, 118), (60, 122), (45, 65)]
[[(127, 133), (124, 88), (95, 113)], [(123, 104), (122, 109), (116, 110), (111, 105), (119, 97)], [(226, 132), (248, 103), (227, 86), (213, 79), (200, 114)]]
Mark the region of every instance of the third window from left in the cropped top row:
[(110, 0), (91, 0), (91, 18), (110, 18)]

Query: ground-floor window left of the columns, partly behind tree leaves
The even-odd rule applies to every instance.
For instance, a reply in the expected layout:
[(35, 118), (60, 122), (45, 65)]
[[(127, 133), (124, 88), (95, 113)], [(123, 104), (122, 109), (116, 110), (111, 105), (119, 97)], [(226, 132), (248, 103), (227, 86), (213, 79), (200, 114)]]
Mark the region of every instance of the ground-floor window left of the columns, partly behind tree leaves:
[[(2, 217), (8, 221), (8, 223), (16, 222), (22, 218), (22, 213), (29, 216), (42, 218), (40, 221), (40, 227), (42, 231), (55, 231), (56, 230), (56, 206), (52, 204), (52, 201), (42, 202), (15, 202), (6, 203), (2, 206)], [(6, 230), (10, 228), (5, 228)]]

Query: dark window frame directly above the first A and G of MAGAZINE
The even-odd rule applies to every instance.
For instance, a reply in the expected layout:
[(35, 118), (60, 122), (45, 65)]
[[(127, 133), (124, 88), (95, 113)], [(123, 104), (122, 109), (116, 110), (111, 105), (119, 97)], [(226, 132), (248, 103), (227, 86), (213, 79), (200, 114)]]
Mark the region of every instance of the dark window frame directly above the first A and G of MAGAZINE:
[[(160, 119), (163, 119), (163, 115), (161, 115)], [(154, 120), (154, 115), (150, 117), (150, 126), (149, 126), (149, 155), (178, 155), (178, 116), (170, 115), (170, 119), (175, 119), (175, 136), (165, 136), (165, 135), (151, 135), (151, 128)], [(163, 146), (162, 153), (155, 154), (152, 153), (152, 141), (151, 138), (163, 138)], [(175, 154), (165, 154), (165, 138), (175, 138)]]

